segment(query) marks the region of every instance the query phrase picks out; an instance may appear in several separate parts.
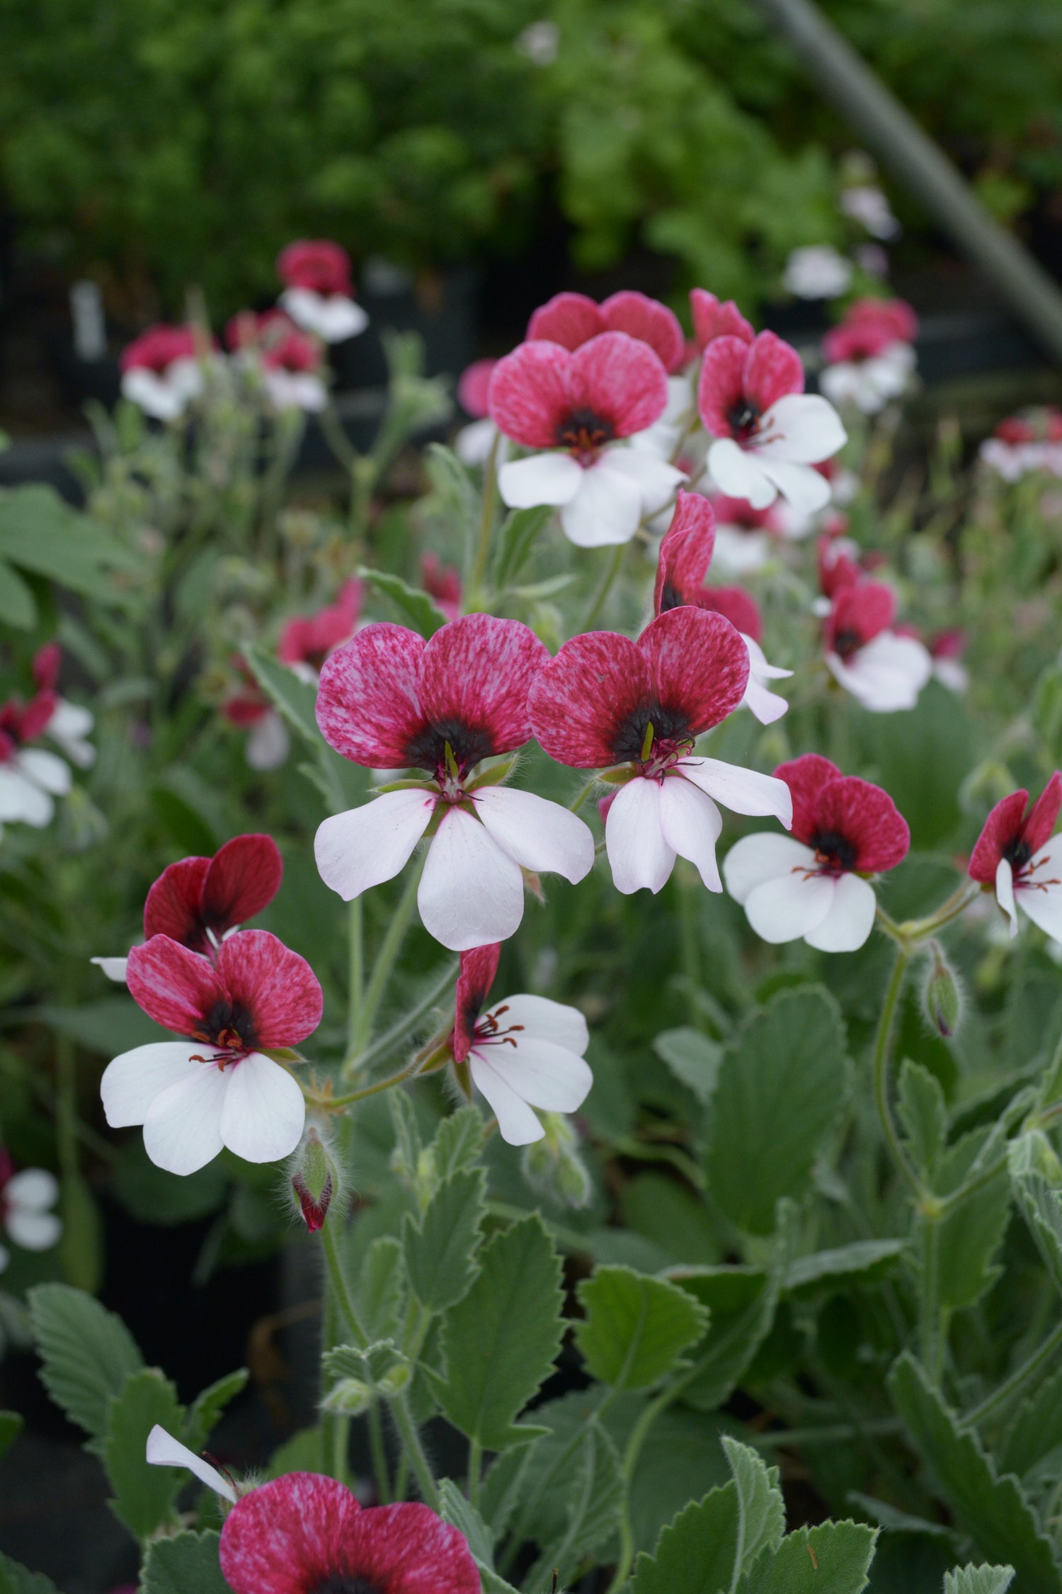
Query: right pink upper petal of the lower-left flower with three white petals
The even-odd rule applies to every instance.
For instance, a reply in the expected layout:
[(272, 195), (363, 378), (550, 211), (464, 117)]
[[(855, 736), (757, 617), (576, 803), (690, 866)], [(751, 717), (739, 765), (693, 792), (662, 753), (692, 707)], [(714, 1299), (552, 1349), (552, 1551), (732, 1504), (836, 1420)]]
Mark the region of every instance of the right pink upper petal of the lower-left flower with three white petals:
[(217, 968), (232, 1004), (250, 1012), (258, 1046), (296, 1046), (320, 1023), (323, 998), (317, 976), (306, 958), (269, 931), (240, 929), (229, 936)]

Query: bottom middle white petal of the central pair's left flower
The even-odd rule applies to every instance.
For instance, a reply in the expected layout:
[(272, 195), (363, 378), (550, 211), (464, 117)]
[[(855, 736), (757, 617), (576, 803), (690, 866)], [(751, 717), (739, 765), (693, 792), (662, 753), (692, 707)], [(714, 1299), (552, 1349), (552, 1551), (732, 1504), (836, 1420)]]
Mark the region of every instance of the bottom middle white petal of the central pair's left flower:
[(424, 928), (451, 952), (508, 940), (524, 917), (524, 875), (486, 826), (451, 808), (428, 848), (417, 907)]

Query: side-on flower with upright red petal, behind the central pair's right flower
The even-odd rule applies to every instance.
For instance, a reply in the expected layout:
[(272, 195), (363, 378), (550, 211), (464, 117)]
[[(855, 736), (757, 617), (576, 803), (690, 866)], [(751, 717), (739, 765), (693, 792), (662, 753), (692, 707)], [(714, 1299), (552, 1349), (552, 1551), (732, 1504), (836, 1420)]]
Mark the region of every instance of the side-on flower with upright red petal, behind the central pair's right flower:
[(769, 665), (759, 646), (763, 623), (759, 607), (752, 593), (740, 587), (705, 587), (704, 577), (712, 563), (716, 526), (710, 502), (696, 493), (680, 493), (670, 529), (661, 542), (653, 591), (653, 612), (664, 614), (681, 604), (710, 609), (724, 615), (742, 634), (748, 649), (748, 682), (742, 705), (756, 716), (761, 725), (771, 725), (788, 709), (788, 703), (764, 682), (791, 676), (791, 669)]

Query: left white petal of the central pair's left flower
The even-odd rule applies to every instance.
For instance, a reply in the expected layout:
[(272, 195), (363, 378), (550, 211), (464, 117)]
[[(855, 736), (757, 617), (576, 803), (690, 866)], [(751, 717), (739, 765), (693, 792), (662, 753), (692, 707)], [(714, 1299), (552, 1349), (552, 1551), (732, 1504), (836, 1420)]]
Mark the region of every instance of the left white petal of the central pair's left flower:
[(326, 886), (344, 902), (393, 880), (428, 827), (435, 792), (381, 792), (360, 808), (336, 813), (317, 827), (314, 858)]

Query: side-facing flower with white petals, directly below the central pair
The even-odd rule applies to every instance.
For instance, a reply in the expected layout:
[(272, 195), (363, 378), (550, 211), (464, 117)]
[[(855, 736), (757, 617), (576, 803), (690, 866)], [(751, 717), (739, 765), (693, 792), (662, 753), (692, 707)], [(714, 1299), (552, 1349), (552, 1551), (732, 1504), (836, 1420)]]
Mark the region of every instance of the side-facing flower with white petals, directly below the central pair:
[(578, 1007), (546, 996), (506, 996), (484, 1011), (500, 952), (497, 945), (462, 952), (449, 1044), (459, 1070), (468, 1066), (490, 1103), (502, 1138), (527, 1146), (545, 1135), (533, 1108), (575, 1113), (586, 1100), (594, 1084), (583, 1062), (589, 1030)]

